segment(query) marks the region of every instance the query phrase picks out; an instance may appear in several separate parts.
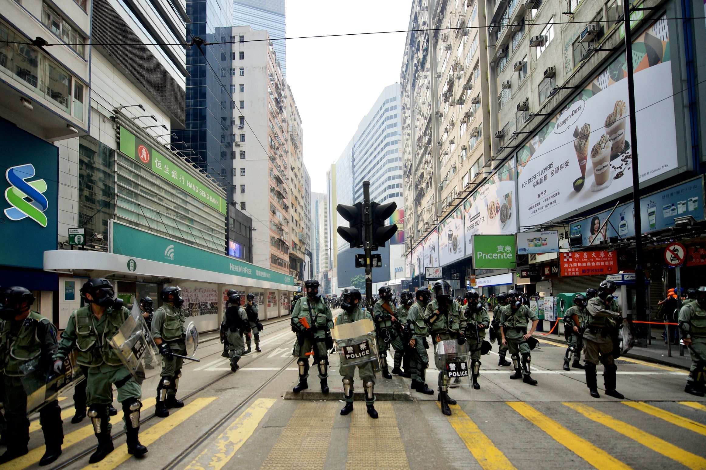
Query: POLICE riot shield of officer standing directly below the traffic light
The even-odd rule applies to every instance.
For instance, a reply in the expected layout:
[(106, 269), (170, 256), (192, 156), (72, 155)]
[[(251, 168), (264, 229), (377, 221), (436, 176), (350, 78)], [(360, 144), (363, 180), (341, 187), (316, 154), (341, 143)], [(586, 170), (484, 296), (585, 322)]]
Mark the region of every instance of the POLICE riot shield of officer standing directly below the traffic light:
[(380, 370), (378, 344), (375, 336), (375, 323), (364, 318), (353, 323), (336, 325), (331, 330), (336, 342), (336, 350), (341, 366), (362, 366), (373, 364), (373, 370)]

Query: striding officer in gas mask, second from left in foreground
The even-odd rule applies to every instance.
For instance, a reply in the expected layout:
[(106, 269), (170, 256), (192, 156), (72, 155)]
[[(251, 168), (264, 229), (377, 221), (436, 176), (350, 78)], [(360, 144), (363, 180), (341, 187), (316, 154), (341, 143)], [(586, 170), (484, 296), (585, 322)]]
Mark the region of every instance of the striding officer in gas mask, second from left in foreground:
[(54, 354), (54, 370), (61, 371), (64, 358), (73, 349), (78, 349), (76, 363), (88, 367), (88, 416), (98, 439), (98, 447), (88, 462), (100, 462), (113, 451), (108, 415), (113, 384), (123, 407), (128, 453), (140, 456), (147, 452), (147, 447), (138, 440), (142, 389), (110, 346), (110, 340), (130, 316), (130, 311), (122, 306), (121, 300), (114, 299), (115, 291), (108, 279), (90, 279), (80, 292), (88, 305), (69, 315), (59, 349)]

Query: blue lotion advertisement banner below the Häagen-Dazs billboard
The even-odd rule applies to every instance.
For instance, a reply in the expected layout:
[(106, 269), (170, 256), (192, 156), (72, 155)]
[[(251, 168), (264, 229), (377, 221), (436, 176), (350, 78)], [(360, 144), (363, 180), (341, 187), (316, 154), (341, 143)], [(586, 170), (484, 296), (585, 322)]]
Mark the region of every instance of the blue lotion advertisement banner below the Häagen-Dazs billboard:
[[(581, 235), (584, 246), (599, 245), (611, 237), (635, 236), (635, 205), (619, 205), (611, 215), (606, 210), (571, 224), (571, 234)], [(704, 217), (704, 186), (701, 177), (640, 198), (642, 233), (674, 227), (676, 217), (690, 215), (697, 222)], [(609, 220), (606, 222), (606, 217)]]

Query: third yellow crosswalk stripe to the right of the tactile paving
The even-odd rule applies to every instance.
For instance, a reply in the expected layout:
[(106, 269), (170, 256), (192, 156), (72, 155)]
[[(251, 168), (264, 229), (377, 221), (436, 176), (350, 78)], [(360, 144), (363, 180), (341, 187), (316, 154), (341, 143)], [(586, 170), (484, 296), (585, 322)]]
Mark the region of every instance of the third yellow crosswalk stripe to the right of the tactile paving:
[(640, 442), (640, 444), (645, 447), (649, 447), (654, 450), (654, 452), (664, 455), (664, 457), (669, 457), (684, 466), (688, 466), (690, 469), (706, 469), (706, 459), (699, 457), (696, 454), (692, 454), (691, 452), (687, 452), (681, 447), (676, 447), (676, 445), (666, 442), (666, 440), (658, 438), (656, 435), (645, 433), (642, 429), (635, 428), (635, 426), (630, 426), (628, 423), (619, 421), (613, 416), (602, 413), (601, 411), (585, 404), (565, 402), (564, 405), (568, 406), (570, 409), (578, 411), (583, 416), (586, 416), (597, 423), (601, 423), (602, 425), (607, 426), (608, 428), (611, 428), (612, 430), (621, 433), (632, 440)]

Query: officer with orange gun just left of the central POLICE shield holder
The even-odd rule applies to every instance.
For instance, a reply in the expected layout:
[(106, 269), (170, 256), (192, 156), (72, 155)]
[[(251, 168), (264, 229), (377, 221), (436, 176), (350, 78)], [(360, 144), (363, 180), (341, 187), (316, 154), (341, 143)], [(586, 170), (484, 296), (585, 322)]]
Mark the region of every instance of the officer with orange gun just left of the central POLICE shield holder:
[(292, 390), (295, 393), (309, 388), (309, 356), (313, 351), (313, 360), (318, 366), (318, 378), (321, 392), (328, 393), (328, 350), (333, 348), (331, 328), (333, 315), (331, 309), (318, 294), (318, 281), (309, 279), (304, 282), (306, 297), (302, 297), (292, 310), (292, 329), (297, 333), (293, 356), (299, 356), (299, 384)]

